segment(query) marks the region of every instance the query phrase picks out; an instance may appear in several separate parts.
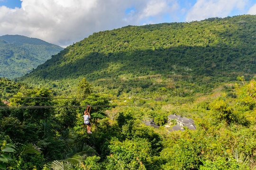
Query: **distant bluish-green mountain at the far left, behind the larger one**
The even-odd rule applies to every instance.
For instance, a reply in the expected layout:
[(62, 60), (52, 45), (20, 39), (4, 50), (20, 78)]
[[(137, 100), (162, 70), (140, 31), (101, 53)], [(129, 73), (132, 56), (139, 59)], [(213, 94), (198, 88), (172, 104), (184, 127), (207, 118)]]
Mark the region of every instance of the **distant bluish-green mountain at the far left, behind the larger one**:
[(0, 36), (0, 77), (24, 76), (61, 50), (62, 47), (37, 38)]

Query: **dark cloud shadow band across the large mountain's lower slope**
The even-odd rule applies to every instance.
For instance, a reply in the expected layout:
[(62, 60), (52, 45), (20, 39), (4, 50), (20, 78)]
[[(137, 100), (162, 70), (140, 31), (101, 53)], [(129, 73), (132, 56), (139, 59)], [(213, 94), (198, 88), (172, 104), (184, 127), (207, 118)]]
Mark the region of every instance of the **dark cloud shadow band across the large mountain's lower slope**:
[[(67, 53), (64, 50), (62, 56)], [(80, 56), (81, 57), (81, 56)], [(234, 73), (236, 72), (236, 73)], [(231, 46), (178, 46), (168, 49), (91, 52), (81, 59), (53, 56), (20, 80), (65, 79), (83, 76), (90, 81), (120, 75), (226, 76), (256, 73), (255, 53)]]

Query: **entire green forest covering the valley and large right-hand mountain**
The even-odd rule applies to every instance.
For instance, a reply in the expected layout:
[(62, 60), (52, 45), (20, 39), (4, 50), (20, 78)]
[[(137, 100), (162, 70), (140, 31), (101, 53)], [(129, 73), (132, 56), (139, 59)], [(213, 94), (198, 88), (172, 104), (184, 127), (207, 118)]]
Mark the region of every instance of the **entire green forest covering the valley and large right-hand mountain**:
[(93, 33), (0, 77), (0, 169), (255, 170), (255, 80), (255, 15)]

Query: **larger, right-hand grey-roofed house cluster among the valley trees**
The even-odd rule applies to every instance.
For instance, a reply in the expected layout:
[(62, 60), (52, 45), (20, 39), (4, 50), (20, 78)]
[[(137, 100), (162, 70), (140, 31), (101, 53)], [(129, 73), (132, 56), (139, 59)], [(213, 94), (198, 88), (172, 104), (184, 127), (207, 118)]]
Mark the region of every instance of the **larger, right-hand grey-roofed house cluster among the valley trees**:
[(180, 115), (170, 114), (168, 116), (168, 124), (174, 125), (169, 131), (185, 130), (183, 127), (188, 127), (188, 129), (196, 130), (194, 120), (191, 118), (181, 117)]

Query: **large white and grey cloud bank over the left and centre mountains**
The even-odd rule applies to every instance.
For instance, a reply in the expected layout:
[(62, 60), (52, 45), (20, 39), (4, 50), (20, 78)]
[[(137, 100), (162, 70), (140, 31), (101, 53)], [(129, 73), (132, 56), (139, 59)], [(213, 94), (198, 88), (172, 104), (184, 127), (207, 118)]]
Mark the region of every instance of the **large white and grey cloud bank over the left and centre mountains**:
[[(69, 45), (93, 32), (151, 23), (176, 8), (177, 0), (22, 0), (21, 8), (0, 7), (0, 35), (21, 34)], [(128, 15), (127, 8), (136, 10)]]

